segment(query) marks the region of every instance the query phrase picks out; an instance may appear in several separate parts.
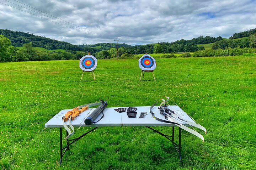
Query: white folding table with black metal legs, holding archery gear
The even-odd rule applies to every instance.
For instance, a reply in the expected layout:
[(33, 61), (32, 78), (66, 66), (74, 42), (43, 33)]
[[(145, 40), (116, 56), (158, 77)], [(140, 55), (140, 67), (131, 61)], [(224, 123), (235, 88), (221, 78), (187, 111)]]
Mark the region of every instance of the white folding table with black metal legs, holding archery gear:
[[(123, 108), (126, 108), (126, 107), (123, 107)], [(114, 111), (115, 108), (113, 108), (113, 107), (105, 108), (103, 111), (105, 116), (97, 123), (90, 125), (91, 127), (95, 127), (95, 128), (93, 128), (92, 130), (86, 132), (85, 134), (83, 134), (77, 138), (74, 138), (71, 140), (69, 140), (69, 139), (66, 140), (65, 147), (62, 146), (63, 145), (62, 128), (64, 128), (62, 117), (66, 114), (66, 112), (71, 111), (72, 109), (65, 109), (65, 110), (60, 111), (58, 114), (56, 114), (52, 119), (50, 119), (44, 125), (45, 128), (59, 128), (59, 133), (60, 133), (60, 162), (59, 162), (59, 164), (61, 165), (62, 158), (63, 158), (65, 152), (67, 150), (69, 150), (69, 146), (72, 143), (74, 143), (75, 141), (84, 137), (85, 135), (89, 134), (91, 131), (97, 129), (98, 127), (103, 127), (103, 126), (145, 126), (149, 129), (155, 131), (156, 133), (166, 137), (169, 141), (171, 141), (174, 144), (174, 147), (179, 154), (180, 162), (182, 162), (181, 161), (181, 128), (179, 127), (179, 140), (178, 140), (178, 144), (177, 144), (174, 142), (174, 127), (176, 126), (175, 124), (164, 123), (164, 122), (155, 120), (149, 112), (150, 106), (142, 106), (142, 107), (137, 107), (137, 108), (138, 109), (136, 111), (137, 112), (136, 118), (128, 118), (126, 112), (118, 113), (118, 112)], [(172, 111), (175, 111), (178, 114), (180, 114), (184, 119), (194, 122), (194, 120), (191, 119), (191, 117), (189, 115), (187, 115), (184, 111), (182, 111), (182, 109), (180, 107), (168, 106), (168, 108), (171, 109)], [(71, 124), (74, 127), (87, 126), (87, 125), (85, 125), (84, 120), (87, 117), (87, 115), (89, 115), (89, 113), (91, 113), (94, 109), (95, 108), (89, 108), (88, 110), (82, 112), (78, 117), (75, 118), (75, 120), (71, 121)], [(165, 120), (164, 116), (160, 114), (157, 106), (155, 106), (151, 111), (154, 112), (155, 117)], [(145, 116), (145, 118), (139, 118), (140, 112), (147, 112), (148, 114)], [(102, 116), (102, 114), (100, 114), (96, 120), (100, 119), (101, 116)], [(179, 121), (179, 120), (177, 120), (177, 121), (180, 124), (189, 126), (188, 124), (185, 124), (182, 121)], [(69, 126), (68, 121), (66, 121), (66, 125)], [(172, 135), (162, 134), (161, 132), (159, 132), (153, 128), (150, 128), (149, 126), (172, 126)], [(66, 135), (68, 135), (67, 131), (66, 131)], [(169, 137), (172, 137), (172, 139), (170, 139)]]

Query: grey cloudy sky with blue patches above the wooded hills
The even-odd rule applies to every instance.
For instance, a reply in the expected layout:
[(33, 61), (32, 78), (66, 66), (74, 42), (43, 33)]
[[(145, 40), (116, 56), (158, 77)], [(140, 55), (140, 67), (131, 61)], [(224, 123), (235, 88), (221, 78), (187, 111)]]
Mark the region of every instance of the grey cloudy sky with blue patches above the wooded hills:
[(118, 38), (137, 45), (200, 35), (229, 38), (256, 27), (255, 9), (255, 0), (0, 0), (0, 28), (72, 44)]

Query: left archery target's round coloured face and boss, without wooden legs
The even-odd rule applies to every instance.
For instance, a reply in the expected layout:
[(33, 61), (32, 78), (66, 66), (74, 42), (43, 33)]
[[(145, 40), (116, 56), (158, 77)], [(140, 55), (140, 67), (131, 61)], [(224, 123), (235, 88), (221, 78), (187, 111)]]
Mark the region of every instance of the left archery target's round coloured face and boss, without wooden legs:
[(80, 59), (79, 67), (83, 71), (90, 72), (97, 67), (97, 58), (91, 55), (86, 55)]

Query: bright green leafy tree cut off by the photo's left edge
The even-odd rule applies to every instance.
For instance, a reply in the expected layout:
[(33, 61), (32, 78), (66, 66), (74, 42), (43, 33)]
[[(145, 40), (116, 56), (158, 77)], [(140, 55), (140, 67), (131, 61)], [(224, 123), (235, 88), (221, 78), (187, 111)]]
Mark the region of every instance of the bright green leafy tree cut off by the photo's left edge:
[(9, 38), (6, 38), (4, 35), (0, 35), (0, 62), (11, 61), (9, 46), (11, 41)]

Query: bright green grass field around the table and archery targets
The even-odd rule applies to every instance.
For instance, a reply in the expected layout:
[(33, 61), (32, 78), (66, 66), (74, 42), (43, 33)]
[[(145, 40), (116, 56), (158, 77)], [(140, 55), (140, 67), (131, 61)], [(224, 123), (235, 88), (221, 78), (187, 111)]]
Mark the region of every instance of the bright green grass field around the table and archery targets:
[[(98, 60), (96, 82), (90, 73), (80, 82), (78, 60), (0, 63), (0, 169), (255, 169), (256, 57), (156, 61), (156, 81), (150, 73), (139, 81), (137, 59)], [(203, 143), (182, 131), (182, 164), (172, 144), (147, 128), (104, 127), (72, 145), (59, 168), (59, 129), (44, 128), (59, 111), (99, 99), (151, 106), (164, 96), (208, 131)]]

